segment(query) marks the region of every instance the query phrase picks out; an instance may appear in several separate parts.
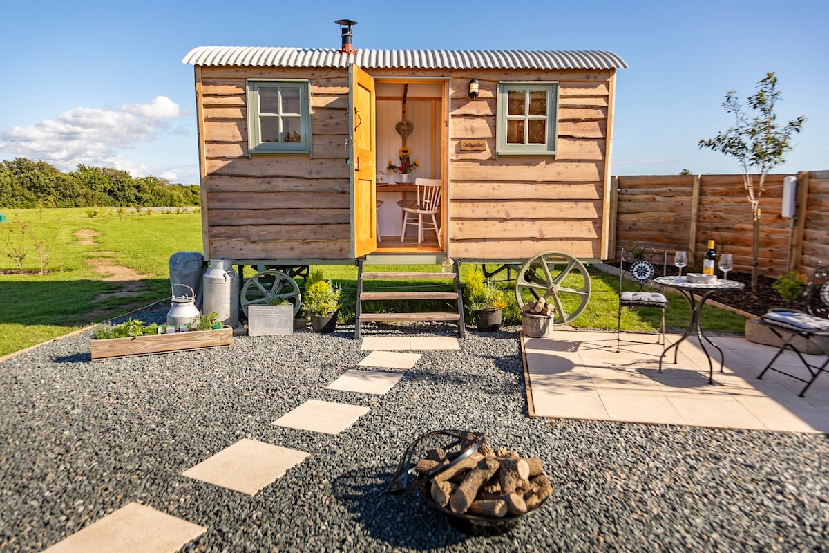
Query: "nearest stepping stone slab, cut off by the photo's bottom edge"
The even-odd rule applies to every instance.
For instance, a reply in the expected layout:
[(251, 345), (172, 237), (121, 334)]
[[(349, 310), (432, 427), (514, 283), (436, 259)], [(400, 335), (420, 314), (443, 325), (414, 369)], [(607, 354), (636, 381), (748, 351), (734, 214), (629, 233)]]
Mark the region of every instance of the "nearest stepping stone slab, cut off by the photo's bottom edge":
[[(153, 507), (128, 503), (46, 549), (48, 553), (173, 553), (206, 531)], [(46, 553), (46, 551), (44, 553)]]

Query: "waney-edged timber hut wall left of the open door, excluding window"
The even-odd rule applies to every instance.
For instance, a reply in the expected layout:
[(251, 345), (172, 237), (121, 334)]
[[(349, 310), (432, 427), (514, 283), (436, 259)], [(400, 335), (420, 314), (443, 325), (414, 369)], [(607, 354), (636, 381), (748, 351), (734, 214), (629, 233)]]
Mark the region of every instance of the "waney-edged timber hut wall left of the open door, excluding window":
[[(201, 78), (199, 71), (201, 70)], [(248, 156), (247, 79), (308, 79), (312, 156)], [(348, 76), (343, 70), (201, 67), (205, 251), (236, 260), (348, 258)]]

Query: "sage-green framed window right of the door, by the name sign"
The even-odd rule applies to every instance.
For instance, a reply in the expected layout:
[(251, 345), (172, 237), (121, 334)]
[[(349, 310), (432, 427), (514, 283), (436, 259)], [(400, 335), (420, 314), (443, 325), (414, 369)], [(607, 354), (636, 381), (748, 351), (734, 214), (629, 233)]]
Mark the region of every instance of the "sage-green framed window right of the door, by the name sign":
[(555, 155), (558, 83), (498, 83), (497, 153)]

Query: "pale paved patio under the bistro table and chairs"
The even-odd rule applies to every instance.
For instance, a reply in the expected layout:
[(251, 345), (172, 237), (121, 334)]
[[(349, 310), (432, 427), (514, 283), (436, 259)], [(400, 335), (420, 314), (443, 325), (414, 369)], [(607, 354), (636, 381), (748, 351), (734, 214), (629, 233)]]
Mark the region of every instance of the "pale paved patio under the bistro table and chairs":
[[(680, 335), (667, 335), (667, 345)], [(696, 339), (683, 342), (658, 372), (662, 344), (656, 337), (556, 329), (553, 337), (522, 337), (528, 405), (533, 416), (616, 420), (647, 424), (690, 424), (715, 428), (829, 433), (829, 376), (815, 381), (804, 397), (802, 382), (769, 371), (757, 376), (777, 352), (744, 337), (712, 337), (725, 355), (713, 352), (714, 384)], [(633, 341), (652, 343), (634, 343)], [(629, 341), (629, 342), (628, 342)], [(709, 348), (710, 349), (710, 348)], [(807, 356), (807, 360), (815, 356)], [(802, 367), (787, 352), (781, 366)]]

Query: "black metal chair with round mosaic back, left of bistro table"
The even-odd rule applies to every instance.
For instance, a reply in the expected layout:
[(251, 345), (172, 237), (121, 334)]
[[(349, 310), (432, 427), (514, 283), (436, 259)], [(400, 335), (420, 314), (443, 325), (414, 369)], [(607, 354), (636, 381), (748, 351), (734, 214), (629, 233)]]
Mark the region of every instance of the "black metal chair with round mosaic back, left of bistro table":
[[(619, 252), (619, 307), (616, 319), (616, 351), (620, 342), (665, 343), (665, 308), (668, 300), (661, 285), (653, 281), (665, 276), (668, 250), (657, 250), (650, 246), (622, 248)], [(659, 309), (662, 323), (657, 342), (638, 342), (621, 338), (623, 308)]]

